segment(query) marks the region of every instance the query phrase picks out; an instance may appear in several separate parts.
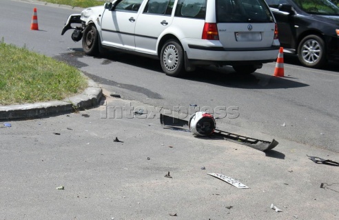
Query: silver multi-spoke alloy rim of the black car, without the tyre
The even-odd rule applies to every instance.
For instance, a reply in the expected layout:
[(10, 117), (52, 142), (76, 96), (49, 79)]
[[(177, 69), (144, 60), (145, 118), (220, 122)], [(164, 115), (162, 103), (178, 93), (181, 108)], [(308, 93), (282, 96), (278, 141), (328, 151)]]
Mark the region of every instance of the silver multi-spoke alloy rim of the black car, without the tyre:
[(321, 56), (321, 48), (318, 41), (310, 39), (302, 46), (302, 59), (307, 63), (316, 63)]

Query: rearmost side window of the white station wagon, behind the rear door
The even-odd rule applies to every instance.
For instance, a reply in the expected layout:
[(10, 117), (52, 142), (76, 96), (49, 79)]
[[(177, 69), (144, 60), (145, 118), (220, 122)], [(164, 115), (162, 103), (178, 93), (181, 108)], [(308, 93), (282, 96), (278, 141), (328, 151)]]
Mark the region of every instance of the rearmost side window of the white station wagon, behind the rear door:
[(206, 0), (178, 0), (174, 16), (205, 19)]

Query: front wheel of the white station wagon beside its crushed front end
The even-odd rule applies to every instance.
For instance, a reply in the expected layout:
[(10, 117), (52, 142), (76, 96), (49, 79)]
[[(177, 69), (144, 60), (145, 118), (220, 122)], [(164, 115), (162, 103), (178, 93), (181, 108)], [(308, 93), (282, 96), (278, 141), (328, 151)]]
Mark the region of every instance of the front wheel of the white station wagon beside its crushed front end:
[(99, 34), (92, 24), (88, 25), (83, 31), (83, 51), (92, 56), (99, 53)]

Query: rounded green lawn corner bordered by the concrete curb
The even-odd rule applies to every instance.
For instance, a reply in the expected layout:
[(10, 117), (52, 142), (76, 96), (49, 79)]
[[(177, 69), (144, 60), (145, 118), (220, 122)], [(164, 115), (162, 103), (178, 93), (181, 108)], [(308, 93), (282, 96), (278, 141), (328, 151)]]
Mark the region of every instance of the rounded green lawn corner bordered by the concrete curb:
[(87, 86), (78, 69), (0, 41), (0, 105), (62, 100)]

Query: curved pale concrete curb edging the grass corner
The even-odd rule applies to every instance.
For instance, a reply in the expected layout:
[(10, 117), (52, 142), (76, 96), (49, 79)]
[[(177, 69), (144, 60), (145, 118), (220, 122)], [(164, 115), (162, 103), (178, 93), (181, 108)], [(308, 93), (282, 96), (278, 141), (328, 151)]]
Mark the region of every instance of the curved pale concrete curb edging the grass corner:
[(0, 121), (46, 117), (51, 114), (70, 113), (79, 108), (91, 108), (99, 104), (102, 96), (103, 90), (99, 87), (99, 84), (88, 79), (88, 88), (81, 94), (68, 97), (62, 101), (0, 106)]

